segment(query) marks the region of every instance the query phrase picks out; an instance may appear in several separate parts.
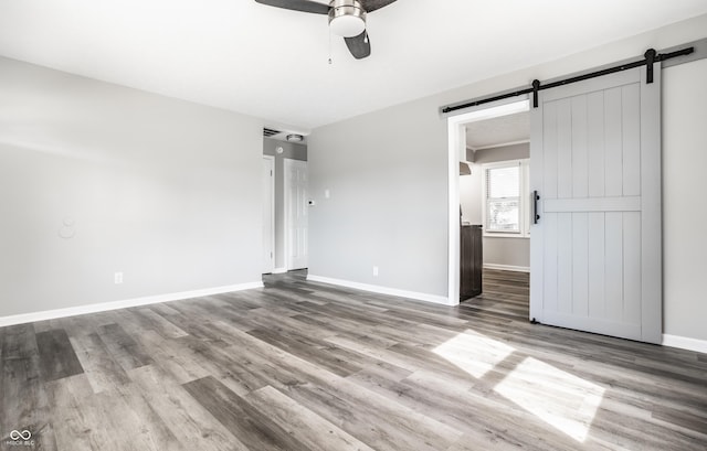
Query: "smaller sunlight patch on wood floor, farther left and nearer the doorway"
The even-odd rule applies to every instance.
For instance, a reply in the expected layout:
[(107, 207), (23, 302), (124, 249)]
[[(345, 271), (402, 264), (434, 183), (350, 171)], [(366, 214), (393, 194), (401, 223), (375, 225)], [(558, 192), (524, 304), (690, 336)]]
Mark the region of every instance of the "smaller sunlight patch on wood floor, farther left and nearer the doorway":
[(481, 378), (516, 350), (497, 340), (466, 330), (432, 351), (472, 376)]

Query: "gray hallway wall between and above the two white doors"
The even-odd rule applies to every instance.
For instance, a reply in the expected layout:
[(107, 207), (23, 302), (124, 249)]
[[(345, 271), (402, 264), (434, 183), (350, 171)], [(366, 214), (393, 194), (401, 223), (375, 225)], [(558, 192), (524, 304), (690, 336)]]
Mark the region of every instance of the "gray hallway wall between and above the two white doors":
[[(283, 148), (283, 153), (276, 149)], [(263, 154), (275, 157), (275, 269), (285, 268), (285, 168), (283, 161), (307, 161), (307, 146), (264, 138)]]

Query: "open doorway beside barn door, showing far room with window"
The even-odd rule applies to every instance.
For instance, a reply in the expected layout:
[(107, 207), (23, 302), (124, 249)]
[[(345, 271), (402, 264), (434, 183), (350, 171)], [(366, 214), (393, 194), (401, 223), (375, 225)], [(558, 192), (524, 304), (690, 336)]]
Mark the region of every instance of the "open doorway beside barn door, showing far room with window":
[[(529, 316), (530, 114), (519, 111), (465, 125), (466, 165), (460, 175), (462, 214), (460, 301)], [(478, 245), (468, 250), (467, 235)], [(471, 254), (471, 255), (469, 255)], [(469, 262), (478, 264), (469, 265)], [(466, 270), (472, 267), (475, 271)], [(468, 280), (478, 290), (465, 290)]]

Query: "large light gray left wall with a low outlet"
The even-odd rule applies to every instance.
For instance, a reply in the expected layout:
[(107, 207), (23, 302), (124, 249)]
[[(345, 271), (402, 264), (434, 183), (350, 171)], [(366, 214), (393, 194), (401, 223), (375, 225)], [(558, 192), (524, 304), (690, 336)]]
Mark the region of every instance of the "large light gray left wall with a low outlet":
[(7, 58), (0, 98), (0, 316), (260, 280), (262, 121)]

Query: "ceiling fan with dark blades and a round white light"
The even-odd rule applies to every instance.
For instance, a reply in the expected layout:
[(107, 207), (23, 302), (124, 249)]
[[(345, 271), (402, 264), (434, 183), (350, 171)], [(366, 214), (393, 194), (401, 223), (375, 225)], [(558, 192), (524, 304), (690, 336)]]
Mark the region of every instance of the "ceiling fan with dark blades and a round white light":
[(325, 14), (329, 29), (342, 36), (349, 52), (361, 60), (371, 54), (371, 41), (366, 31), (366, 14), (393, 3), (395, 0), (331, 0), (329, 4), (312, 0), (255, 0), (270, 7)]

